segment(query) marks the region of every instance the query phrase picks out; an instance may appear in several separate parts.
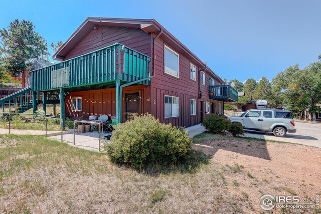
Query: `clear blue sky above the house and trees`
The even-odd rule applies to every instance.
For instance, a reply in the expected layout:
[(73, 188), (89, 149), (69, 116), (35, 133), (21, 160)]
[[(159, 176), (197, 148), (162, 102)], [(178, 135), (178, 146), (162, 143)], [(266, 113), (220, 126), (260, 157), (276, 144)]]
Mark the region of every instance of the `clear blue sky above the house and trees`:
[(0, 28), (33, 22), (48, 44), (65, 41), (89, 16), (154, 18), (220, 77), (270, 80), (321, 54), (321, 1), (6, 1)]

